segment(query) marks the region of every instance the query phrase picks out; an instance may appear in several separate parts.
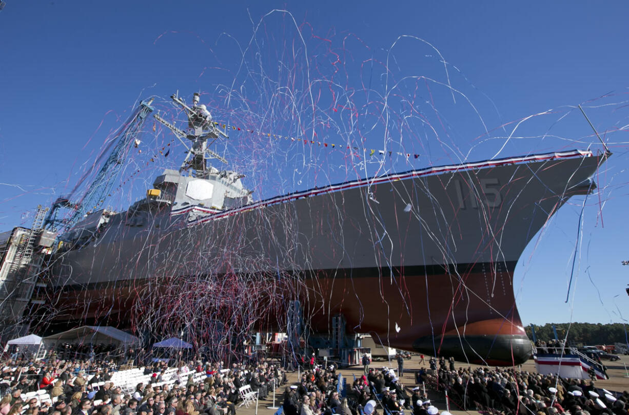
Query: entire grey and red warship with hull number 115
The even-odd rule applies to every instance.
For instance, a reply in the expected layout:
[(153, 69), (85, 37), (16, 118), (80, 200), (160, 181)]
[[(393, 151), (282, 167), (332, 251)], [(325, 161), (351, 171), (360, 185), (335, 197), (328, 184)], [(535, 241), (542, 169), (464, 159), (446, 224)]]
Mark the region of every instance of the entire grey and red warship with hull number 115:
[[(402, 350), (492, 365), (530, 357), (513, 292), (516, 264), (571, 196), (593, 191), (608, 153), (431, 167), (256, 201), (241, 174), (208, 164), (226, 163), (209, 149), (225, 132), (198, 94), (190, 106), (171, 98), (186, 112), (187, 130), (155, 118), (186, 145), (179, 171), (166, 169), (125, 212), (87, 213), (59, 199), (38, 212), (38, 224), (54, 225), (59, 208), (74, 209), (63, 232), (16, 228), (0, 241), (13, 317), (35, 309), (57, 324), (138, 327), (142, 314), (159, 317), (179, 293), (194, 298), (175, 307), (210, 304), (198, 309), (208, 318), (233, 304), (255, 312), (251, 329), (286, 329), (299, 307), (312, 333), (338, 329), (332, 321), (342, 316), (345, 332)], [(151, 110), (143, 103), (128, 128)], [(125, 130), (120, 148), (133, 137)], [(27, 255), (9, 261), (11, 249)], [(38, 253), (38, 272), (18, 295), (28, 278), (6, 275), (29, 275), (24, 264)], [(230, 306), (234, 298), (240, 303)]]

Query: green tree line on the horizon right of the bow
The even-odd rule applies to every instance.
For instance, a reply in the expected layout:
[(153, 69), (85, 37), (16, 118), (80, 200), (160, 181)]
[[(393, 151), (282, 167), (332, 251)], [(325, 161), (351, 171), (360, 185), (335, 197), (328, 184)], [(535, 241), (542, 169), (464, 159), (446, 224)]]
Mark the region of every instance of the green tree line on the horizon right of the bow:
[[(548, 341), (555, 338), (552, 326), (557, 329), (557, 337), (564, 339), (568, 335), (568, 344), (594, 345), (629, 343), (628, 327), (622, 323), (547, 323), (543, 326), (535, 326), (535, 336), (538, 340)], [(526, 326), (526, 335), (533, 340), (531, 326)]]

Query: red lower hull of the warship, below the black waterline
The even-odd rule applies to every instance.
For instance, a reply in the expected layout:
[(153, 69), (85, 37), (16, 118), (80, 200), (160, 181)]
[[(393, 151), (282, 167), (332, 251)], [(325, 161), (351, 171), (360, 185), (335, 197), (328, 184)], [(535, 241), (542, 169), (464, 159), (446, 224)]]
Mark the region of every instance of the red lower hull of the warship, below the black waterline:
[[(513, 296), (514, 267), (515, 263), (486, 263), (459, 265), (459, 270), (465, 269), (459, 272), (454, 272), (454, 267), (443, 266), (317, 271), (306, 274), (305, 278), (301, 275), (303, 288), (296, 298), (304, 308), (309, 329), (315, 333), (331, 333), (331, 317), (342, 314), (348, 332), (372, 334), (376, 341), (393, 348), (430, 356), (452, 356), (470, 363), (512, 366), (532, 355)], [(137, 328), (133, 326), (137, 326), (142, 316), (134, 313), (153, 312), (156, 299), (172, 303), (173, 295), (177, 295), (179, 286), (173, 282), (165, 288), (164, 281), (160, 280), (159, 288), (155, 288), (157, 280), (153, 279), (66, 286), (53, 295), (52, 319), (57, 324), (91, 322)], [(277, 281), (276, 278), (267, 282)], [(282, 291), (285, 294), (282, 298), (291, 297), (281, 288), (276, 293)], [(229, 306), (227, 297), (236, 296), (233, 290), (199, 295), (208, 298), (217, 311)], [(211, 295), (218, 300), (209, 298)], [(252, 299), (248, 305), (264, 302), (260, 298)], [(256, 306), (260, 315), (255, 326), (265, 331), (282, 329), (287, 300), (274, 302), (265, 298), (268, 304)], [(232, 310), (232, 324), (233, 313)], [(159, 314), (152, 316), (159, 319)], [(213, 312), (208, 316), (214, 317)], [(149, 314), (147, 317), (151, 318)]]

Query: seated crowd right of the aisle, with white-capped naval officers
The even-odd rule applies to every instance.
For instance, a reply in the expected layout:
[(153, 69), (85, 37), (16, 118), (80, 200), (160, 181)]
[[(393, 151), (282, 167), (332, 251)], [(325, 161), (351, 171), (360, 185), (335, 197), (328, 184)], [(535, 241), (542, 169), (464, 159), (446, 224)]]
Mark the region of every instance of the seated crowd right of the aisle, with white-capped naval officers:
[(450, 408), (481, 414), (629, 414), (629, 393), (600, 389), (596, 382), (583, 379), (563, 379), (517, 368), (457, 368), (452, 358), (430, 358), (429, 368), (418, 370), (415, 384), (406, 387), (391, 368), (374, 368), (366, 360), (361, 362), (366, 373), (347, 385), (345, 395), (334, 367), (304, 372), (298, 384), (286, 389), (284, 412), (371, 415), (377, 407), (384, 415), (449, 414), (439, 411), (428, 399), (428, 394), (438, 392), (440, 397), (446, 396)]

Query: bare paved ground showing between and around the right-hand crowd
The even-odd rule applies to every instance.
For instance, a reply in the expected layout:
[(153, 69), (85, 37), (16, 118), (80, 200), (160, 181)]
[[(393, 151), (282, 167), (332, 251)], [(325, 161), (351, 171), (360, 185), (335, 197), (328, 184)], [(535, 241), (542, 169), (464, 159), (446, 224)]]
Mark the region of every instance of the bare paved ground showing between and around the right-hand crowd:
[[(604, 365), (608, 368), (608, 375), (610, 376), (609, 380), (597, 380), (596, 385), (601, 388), (605, 388), (608, 390), (615, 390), (618, 392), (622, 392), (623, 390), (629, 390), (629, 356), (620, 356), (620, 360), (611, 362), (604, 361)], [(477, 368), (479, 365), (469, 365), (467, 363), (456, 363), (456, 367), (459, 365), (465, 367)], [(397, 368), (397, 363), (389, 363), (389, 362), (374, 362), (372, 363), (372, 367), (381, 368), (382, 366), (387, 366), (391, 368)], [(421, 367), (428, 367), (428, 361), (426, 360), (425, 364), (420, 365), (420, 357), (413, 356), (409, 360), (404, 360), (404, 375), (401, 377), (401, 381), (407, 389), (412, 389), (416, 386), (415, 384), (415, 372), (417, 372)], [(522, 370), (528, 372), (535, 372), (535, 362), (533, 359), (527, 361), (522, 365)], [(347, 379), (348, 384), (352, 384), (354, 375), (359, 377), (363, 374), (362, 366), (355, 366), (350, 368), (345, 368), (339, 370), (340, 373)], [(298, 373), (288, 373), (289, 383), (292, 384), (296, 382), (298, 379)], [(282, 406), (281, 396), (283, 388), (276, 389), (276, 405)], [(410, 393), (409, 393), (410, 394)], [(428, 398), (433, 403), (433, 405), (437, 406), (439, 411), (446, 410), (445, 399), (442, 394), (437, 394), (435, 392), (428, 392)], [(255, 404), (250, 407), (241, 406), (237, 409), (238, 415), (272, 415), (277, 409), (269, 409), (270, 406), (273, 406), (273, 394), (270, 393), (267, 399), (264, 401), (258, 402), (257, 412), (255, 408)], [(453, 408), (450, 408), (450, 412), (454, 415), (462, 415), (462, 414), (477, 414), (477, 411), (457, 411)], [(379, 411), (382, 414), (382, 411)]]

